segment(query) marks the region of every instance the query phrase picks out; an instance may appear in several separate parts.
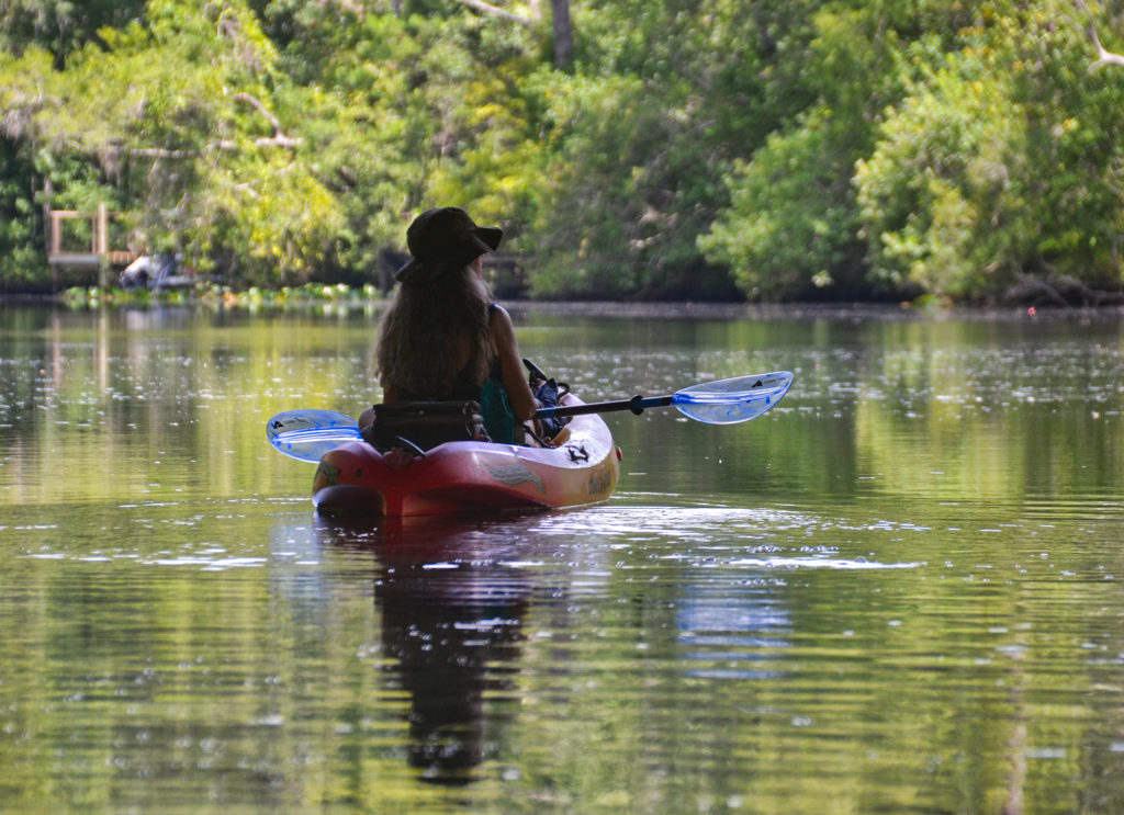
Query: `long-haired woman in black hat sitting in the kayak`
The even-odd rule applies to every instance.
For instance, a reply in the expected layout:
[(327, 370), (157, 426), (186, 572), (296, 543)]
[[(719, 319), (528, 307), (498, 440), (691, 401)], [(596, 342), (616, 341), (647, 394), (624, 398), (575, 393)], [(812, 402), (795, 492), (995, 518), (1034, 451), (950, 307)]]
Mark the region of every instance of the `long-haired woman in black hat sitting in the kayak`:
[[(511, 317), (490, 302), (483, 280), (483, 256), (502, 237), (456, 207), (418, 216), (406, 232), (413, 257), (395, 276), (400, 285), (375, 350), (383, 403), (481, 402), (493, 441), (511, 441), (537, 408)], [(373, 421), (374, 410), (363, 411), (364, 436)]]

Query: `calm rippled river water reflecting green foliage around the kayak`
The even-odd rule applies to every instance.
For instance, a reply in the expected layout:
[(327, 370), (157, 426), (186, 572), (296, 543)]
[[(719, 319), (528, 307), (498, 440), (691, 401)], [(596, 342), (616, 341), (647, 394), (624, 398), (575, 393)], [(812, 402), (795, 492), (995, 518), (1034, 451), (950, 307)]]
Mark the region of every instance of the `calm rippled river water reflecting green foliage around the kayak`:
[(0, 812), (1124, 812), (1124, 318), (516, 311), (606, 504), (319, 518), (374, 318), (0, 309)]

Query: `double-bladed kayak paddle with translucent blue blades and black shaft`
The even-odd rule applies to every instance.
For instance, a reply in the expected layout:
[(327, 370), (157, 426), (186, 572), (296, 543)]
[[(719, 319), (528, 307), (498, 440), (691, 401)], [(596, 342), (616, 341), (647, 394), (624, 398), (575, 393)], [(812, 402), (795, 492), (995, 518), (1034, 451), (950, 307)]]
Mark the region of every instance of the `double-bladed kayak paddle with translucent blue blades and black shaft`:
[[(780, 370), (755, 376), (704, 382), (685, 387), (670, 396), (633, 396), (614, 402), (541, 408), (536, 419), (574, 416), (586, 413), (632, 411), (640, 414), (650, 408), (676, 408), (683, 415), (707, 424), (735, 424), (756, 419), (783, 399), (792, 385), (792, 374)], [(325, 410), (297, 410), (278, 413), (265, 424), (270, 443), (291, 458), (319, 461), (328, 450), (345, 441), (362, 439), (359, 423), (344, 413)]]

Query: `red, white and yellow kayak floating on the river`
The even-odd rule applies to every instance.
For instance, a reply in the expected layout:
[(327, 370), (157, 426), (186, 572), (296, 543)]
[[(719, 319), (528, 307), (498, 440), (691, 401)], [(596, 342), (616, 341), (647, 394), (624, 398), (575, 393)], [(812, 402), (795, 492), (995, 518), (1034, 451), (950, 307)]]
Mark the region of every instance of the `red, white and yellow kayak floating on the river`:
[[(581, 404), (566, 394), (562, 404)], [(448, 441), (420, 455), (379, 452), (347, 441), (320, 458), (312, 503), (320, 511), (384, 516), (541, 510), (608, 498), (620, 475), (619, 451), (596, 413), (574, 416), (555, 448)]]

